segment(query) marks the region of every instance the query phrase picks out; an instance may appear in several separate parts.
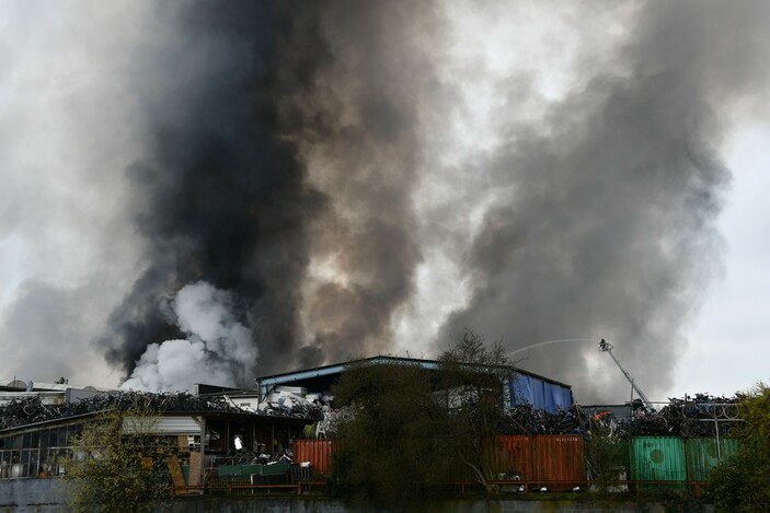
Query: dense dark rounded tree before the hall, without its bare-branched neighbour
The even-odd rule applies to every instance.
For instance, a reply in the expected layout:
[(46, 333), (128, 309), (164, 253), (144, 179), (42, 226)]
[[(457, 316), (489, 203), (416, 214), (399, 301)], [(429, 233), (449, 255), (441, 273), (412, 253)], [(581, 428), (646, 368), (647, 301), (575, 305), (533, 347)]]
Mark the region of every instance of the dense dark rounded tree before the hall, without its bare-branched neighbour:
[(439, 467), (446, 458), (436, 436), (443, 415), (423, 368), (354, 362), (332, 394), (335, 405), (353, 411), (331, 434), (337, 493), (398, 503), (445, 481)]

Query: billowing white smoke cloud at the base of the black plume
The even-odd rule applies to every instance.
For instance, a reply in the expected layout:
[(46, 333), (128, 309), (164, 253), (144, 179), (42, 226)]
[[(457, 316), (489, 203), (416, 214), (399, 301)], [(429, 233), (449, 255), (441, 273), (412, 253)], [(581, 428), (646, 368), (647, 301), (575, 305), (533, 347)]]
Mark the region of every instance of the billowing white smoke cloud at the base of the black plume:
[(195, 383), (244, 386), (258, 350), (234, 313), (232, 295), (210, 283), (187, 284), (170, 302), (169, 316), (186, 339), (151, 343), (120, 388), (192, 390)]

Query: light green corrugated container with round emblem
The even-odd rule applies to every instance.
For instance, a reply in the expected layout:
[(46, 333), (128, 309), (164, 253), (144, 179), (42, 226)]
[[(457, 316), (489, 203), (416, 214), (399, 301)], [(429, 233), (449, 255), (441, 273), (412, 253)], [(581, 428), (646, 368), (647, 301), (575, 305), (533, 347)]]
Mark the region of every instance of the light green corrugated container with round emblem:
[[(631, 439), (631, 479), (674, 481), (687, 479), (685, 441), (676, 436)], [(650, 488), (656, 488), (652, 485)]]

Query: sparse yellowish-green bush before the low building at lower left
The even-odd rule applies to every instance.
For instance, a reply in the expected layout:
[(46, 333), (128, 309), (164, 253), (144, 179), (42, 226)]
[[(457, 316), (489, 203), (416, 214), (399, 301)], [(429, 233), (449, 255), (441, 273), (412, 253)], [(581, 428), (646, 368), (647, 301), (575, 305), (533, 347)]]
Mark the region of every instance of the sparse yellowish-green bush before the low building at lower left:
[(72, 444), (66, 488), (76, 511), (148, 511), (168, 500), (168, 438), (153, 434), (146, 408), (112, 410), (89, 422)]

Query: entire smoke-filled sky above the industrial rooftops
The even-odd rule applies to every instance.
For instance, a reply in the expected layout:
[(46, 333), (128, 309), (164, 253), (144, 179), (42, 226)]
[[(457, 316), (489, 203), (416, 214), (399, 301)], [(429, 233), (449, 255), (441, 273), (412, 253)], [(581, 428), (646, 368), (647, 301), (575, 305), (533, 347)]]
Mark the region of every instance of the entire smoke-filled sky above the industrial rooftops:
[(582, 403), (630, 394), (600, 338), (654, 399), (770, 378), (768, 2), (10, 0), (0, 28), (0, 378), (243, 386), (464, 329)]

